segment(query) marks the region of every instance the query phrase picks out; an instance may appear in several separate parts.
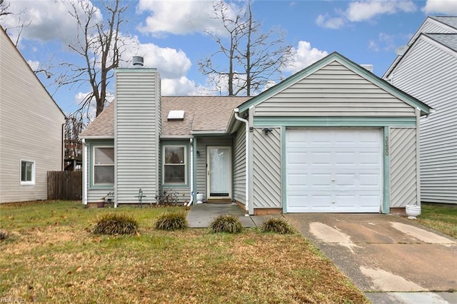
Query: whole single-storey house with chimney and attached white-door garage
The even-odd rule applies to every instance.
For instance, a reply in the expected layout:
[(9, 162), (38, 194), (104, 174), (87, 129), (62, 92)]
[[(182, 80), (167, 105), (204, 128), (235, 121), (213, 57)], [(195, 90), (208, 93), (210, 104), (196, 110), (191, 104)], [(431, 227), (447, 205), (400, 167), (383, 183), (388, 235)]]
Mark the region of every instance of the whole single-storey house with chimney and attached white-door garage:
[[(430, 108), (338, 53), (255, 97), (161, 97), (156, 69), (116, 70), (81, 133), (83, 203), (236, 201), (249, 214), (389, 213), (419, 203), (418, 121)], [(195, 197), (194, 197), (195, 201)]]

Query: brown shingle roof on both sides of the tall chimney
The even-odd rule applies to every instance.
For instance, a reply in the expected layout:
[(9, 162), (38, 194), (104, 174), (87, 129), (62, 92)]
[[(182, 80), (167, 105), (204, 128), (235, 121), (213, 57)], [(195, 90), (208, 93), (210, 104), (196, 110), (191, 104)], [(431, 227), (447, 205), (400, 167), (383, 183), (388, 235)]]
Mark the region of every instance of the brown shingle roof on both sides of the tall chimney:
[[(225, 133), (233, 108), (251, 97), (163, 96), (161, 137)], [(184, 120), (168, 121), (169, 111), (184, 111)], [(80, 134), (81, 138), (114, 138), (114, 103), (111, 103)]]

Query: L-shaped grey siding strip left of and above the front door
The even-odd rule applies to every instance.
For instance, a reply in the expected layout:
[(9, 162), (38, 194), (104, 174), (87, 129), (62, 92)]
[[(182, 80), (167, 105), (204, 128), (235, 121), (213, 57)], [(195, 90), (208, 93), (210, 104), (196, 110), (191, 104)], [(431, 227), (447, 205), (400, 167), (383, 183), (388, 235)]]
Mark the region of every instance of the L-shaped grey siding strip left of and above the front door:
[(206, 201), (206, 146), (232, 146), (233, 140), (231, 137), (202, 137), (196, 138), (196, 141), (199, 151), (196, 159), (197, 192), (204, 193)]

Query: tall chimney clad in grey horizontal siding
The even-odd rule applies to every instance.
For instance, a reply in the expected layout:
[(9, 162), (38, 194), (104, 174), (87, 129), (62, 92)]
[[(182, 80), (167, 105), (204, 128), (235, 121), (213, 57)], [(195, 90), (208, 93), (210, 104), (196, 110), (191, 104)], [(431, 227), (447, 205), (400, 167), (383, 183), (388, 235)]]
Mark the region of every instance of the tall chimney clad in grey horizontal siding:
[(136, 203), (139, 188), (154, 203), (159, 187), (161, 81), (156, 69), (116, 71), (115, 199)]

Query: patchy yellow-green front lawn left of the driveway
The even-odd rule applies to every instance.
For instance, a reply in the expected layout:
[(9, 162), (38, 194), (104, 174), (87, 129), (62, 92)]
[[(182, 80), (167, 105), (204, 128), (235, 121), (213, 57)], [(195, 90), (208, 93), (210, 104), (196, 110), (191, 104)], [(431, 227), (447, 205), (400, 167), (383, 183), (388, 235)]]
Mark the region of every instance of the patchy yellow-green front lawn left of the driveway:
[[(302, 235), (156, 230), (170, 208), (0, 206), (0, 297), (38, 303), (368, 303)], [(97, 216), (134, 216), (140, 233), (99, 236)]]

